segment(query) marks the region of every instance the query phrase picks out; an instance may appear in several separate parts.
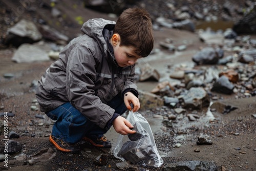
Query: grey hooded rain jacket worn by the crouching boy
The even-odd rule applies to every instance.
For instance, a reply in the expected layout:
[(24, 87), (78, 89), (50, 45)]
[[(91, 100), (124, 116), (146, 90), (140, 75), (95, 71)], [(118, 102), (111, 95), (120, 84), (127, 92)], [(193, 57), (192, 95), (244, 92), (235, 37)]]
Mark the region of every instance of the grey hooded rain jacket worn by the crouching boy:
[(109, 42), (114, 27), (115, 22), (102, 18), (83, 24), (84, 34), (70, 41), (38, 81), (36, 98), (41, 112), (71, 102), (104, 128), (115, 112), (106, 103), (127, 89), (137, 91), (133, 83), (135, 65), (120, 68), (115, 62)]

